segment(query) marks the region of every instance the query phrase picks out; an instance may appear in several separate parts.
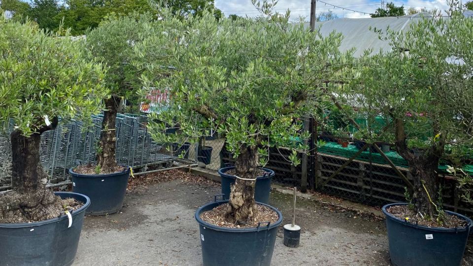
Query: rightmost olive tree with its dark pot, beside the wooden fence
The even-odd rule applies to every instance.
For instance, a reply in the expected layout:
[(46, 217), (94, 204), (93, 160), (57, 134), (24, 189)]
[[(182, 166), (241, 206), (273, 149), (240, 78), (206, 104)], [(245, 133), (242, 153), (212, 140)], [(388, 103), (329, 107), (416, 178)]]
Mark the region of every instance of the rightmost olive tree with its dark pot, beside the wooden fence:
[[(360, 78), (340, 93), (356, 97), (360, 112), (391, 119), (386, 129), (412, 175), (409, 202), (383, 207), (394, 265), (460, 265), (472, 226), (441, 205), (445, 146), (473, 144), (473, 44), (465, 40), (473, 20), (455, 7), (449, 14), (381, 34), (393, 49), (364, 58)], [(424, 150), (411, 150), (419, 140)]]

